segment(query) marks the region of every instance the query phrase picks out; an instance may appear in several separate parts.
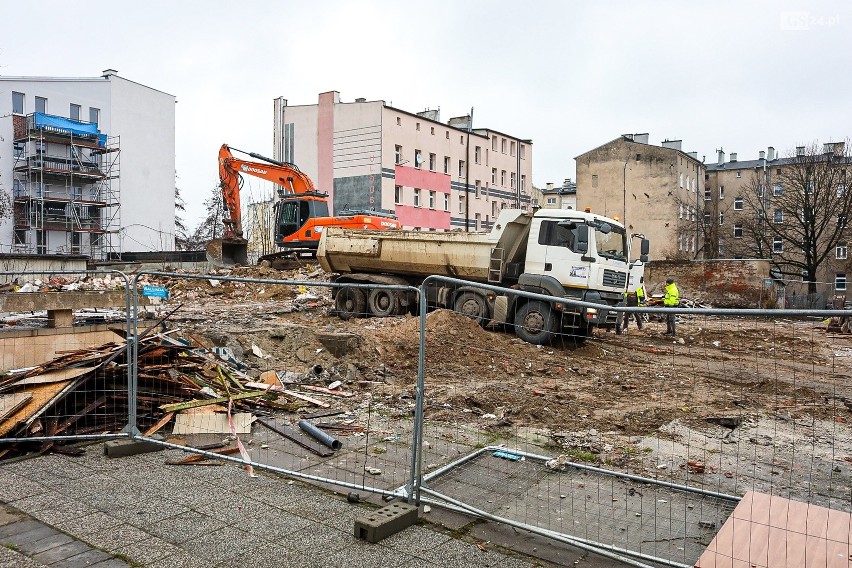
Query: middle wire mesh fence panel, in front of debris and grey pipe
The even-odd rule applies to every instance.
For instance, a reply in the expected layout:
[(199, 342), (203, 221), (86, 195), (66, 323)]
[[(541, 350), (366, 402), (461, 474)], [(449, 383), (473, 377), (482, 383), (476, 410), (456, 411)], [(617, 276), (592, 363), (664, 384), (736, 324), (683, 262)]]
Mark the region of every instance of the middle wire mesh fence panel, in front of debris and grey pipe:
[[(245, 272), (137, 275), (140, 286), (168, 291), (161, 312), (144, 320), (160, 328), (146, 336), (138, 323), (139, 435), (337, 488), (405, 493), (416, 321), (402, 314), (364, 320), (360, 301), (340, 319), (333, 300), (340, 286)], [(356, 296), (399, 288), (365, 285)], [(391, 350), (405, 355), (391, 364)], [(163, 370), (169, 400), (151, 404), (151, 389), (163, 392)], [(324, 446), (321, 433), (307, 432), (312, 426), (340, 447)]]

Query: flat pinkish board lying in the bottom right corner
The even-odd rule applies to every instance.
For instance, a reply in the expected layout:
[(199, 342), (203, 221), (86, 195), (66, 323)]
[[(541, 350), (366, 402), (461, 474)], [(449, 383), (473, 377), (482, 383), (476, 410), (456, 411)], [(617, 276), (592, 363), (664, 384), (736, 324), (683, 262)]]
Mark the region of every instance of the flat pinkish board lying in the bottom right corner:
[(852, 515), (749, 491), (695, 568), (849, 568)]

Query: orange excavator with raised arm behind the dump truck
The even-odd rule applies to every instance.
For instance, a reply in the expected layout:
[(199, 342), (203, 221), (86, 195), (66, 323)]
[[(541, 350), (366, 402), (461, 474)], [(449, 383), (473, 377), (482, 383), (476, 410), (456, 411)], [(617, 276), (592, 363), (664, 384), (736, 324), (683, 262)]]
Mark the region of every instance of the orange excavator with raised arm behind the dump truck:
[[(260, 162), (235, 158), (233, 151)], [(328, 194), (314, 188), (304, 172), (295, 164), (279, 162), (254, 152), (245, 152), (223, 144), (219, 149), (219, 185), (227, 209), (222, 220), (222, 239), (207, 245), (207, 259), (218, 266), (248, 264), (248, 241), (243, 236), (240, 212), (242, 175), (247, 174), (278, 185), (278, 201), (274, 206), (273, 240), (280, 252), (261, 257), (270, 262), (281, 257), (315, 256), (325, 227), (346, 229), (400, 229), (392, 213), (371, 210), (344, 210), (330, 216)]]

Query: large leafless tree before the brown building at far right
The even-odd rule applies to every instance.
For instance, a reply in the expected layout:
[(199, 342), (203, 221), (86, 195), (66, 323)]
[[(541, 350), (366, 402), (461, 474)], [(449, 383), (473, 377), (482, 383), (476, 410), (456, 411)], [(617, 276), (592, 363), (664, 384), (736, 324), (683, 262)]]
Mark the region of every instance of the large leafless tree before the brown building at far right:
[[(808, 282), (843, 238), (852, 215), (849, 143), (800, 146), (779, 166), (758, 169), (746, 184), (743, 246), (781, 274)], [(776, 171), (773, 175), (773, 169)]]

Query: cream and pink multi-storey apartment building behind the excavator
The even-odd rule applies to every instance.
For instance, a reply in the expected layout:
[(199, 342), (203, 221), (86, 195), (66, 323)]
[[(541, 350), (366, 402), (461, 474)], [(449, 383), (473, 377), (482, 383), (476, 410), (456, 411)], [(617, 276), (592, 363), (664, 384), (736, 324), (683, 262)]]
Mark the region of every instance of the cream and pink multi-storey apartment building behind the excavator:
[(409, 112), (384, 101), (274, 101), (274, 154), (295, 163), (335, 214), (393, 211), (406, 229), (490, 229), (500, 210), (528, 208), (532, 141), (471, 117), (441, 122), (439, 110)]

